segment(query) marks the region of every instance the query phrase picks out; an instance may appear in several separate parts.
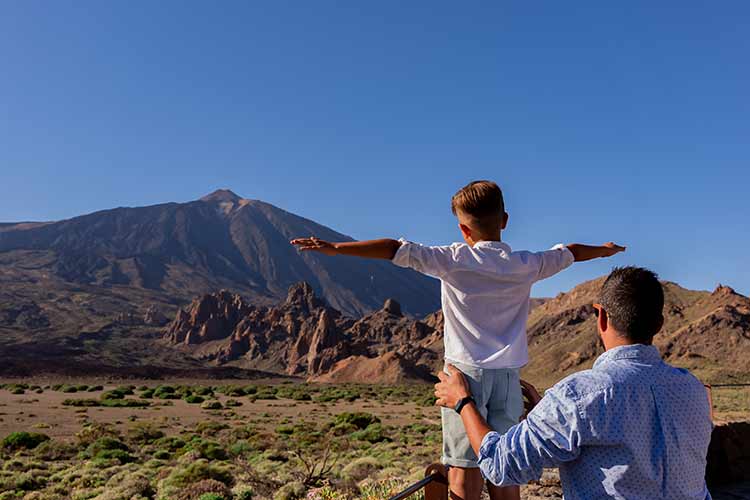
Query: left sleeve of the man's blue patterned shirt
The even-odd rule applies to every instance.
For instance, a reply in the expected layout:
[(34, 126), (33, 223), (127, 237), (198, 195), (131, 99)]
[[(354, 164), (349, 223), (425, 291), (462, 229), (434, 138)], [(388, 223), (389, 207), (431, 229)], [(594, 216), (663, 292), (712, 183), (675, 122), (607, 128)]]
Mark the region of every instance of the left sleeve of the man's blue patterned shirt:
[(555, 388), (526, 420), (507, 433), (488, 433), (479, 448), (479, 469), (492, 484), (509, 486), (539, 479), (542, 470), (575, 460), (581, 447), (576, 402)]

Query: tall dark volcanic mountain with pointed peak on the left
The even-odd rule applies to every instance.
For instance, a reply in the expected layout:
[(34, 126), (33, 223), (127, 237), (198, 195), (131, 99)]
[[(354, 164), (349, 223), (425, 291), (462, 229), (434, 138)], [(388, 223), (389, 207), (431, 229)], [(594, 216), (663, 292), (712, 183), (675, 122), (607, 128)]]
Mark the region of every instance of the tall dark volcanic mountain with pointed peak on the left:
[(148, 307), (138, 303), (140, 296), (175, 305), (222, 288), (272, 304), (299, 281), (351, 316), (390, 297), (416, 316), (439, 307), (435, 280), (389, 262), (299, 253), (289, 244), (307, 235), (351, 240), (268, 203), (218, 190), (188, 203), (0, 224), (0, 269), (9, 270), (4, 281), (21, 280), (26, 288), (44, 283), (53, 290), (95, 287), (131, 295), (131, 308), (139, 310)]

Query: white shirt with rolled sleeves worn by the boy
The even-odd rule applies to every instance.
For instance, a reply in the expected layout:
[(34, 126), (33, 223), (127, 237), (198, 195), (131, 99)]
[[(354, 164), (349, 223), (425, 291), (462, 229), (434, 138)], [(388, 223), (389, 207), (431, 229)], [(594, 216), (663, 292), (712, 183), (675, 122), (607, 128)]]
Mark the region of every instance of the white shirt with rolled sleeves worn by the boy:
[(563, 245), (513, 252), (500, 241), (430, 247), (401, 239), (393, 263), (441, 282), (445, 359), (479, 368), (529, 361), (526, 319), (531, 285), (573, 263)]

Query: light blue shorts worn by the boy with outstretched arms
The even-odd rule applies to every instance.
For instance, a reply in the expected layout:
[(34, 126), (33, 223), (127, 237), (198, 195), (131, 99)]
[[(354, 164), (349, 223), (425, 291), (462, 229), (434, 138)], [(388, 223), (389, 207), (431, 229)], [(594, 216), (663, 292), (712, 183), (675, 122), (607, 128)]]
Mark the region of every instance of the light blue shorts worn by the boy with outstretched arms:
[[(466, 375), (477, 409), (494, 431), (502, 434), (518, 423), (523, 414), (523, 396), (517, 368), (484, 369), (451, 364)], [(443, 464), (478, 467), (461, 416), (452, 408), (442, 408), (442, 421)]]

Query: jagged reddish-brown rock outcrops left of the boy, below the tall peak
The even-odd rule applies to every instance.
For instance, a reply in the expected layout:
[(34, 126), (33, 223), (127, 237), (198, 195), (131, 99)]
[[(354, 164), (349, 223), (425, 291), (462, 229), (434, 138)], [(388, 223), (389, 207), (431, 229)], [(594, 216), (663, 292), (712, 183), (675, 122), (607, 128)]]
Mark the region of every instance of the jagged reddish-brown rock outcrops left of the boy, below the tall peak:
[(395, 382), (432, 380), (439, 360), (428, 346), (434, 334), (405, 317), (393, 299), (355, 321), (299, 283), (273, 307), (250, 305), (227, 291), (204, 295), (177, 313), (164, 338), (217, 364), (311, 380)]

